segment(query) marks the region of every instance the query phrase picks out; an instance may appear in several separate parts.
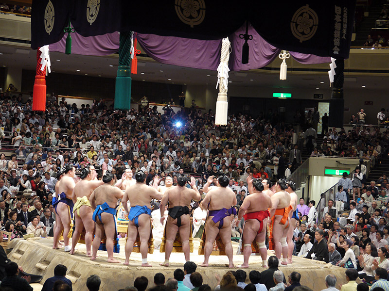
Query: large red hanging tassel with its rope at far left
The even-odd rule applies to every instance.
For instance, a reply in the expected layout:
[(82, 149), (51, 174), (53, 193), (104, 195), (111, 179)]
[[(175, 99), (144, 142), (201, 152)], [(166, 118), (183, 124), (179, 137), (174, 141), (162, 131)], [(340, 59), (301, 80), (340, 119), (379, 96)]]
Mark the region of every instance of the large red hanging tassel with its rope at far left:
[(42, 71), (41, 68), (41, 51), (36, 52), (36, 75), (33, 92), (33, 111), (46, 111), (46, 68)]

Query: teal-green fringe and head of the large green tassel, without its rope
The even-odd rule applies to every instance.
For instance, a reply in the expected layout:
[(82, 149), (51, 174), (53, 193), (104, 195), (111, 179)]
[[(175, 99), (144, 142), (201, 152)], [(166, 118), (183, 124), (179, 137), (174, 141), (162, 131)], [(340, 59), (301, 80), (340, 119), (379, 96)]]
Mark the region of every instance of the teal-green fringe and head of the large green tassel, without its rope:
[(130, 110), (131, 107), (131, 66), (120, 65), (115, 84), (115, 109)]

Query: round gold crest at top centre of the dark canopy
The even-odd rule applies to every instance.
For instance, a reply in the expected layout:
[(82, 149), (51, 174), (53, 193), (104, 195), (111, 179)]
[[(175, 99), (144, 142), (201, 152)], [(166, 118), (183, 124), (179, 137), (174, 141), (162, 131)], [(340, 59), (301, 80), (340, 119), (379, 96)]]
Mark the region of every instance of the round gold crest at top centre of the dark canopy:
[(204, 20), (204, 0), (176, 0), (175, 8), (178, 18), (192, 28)]

